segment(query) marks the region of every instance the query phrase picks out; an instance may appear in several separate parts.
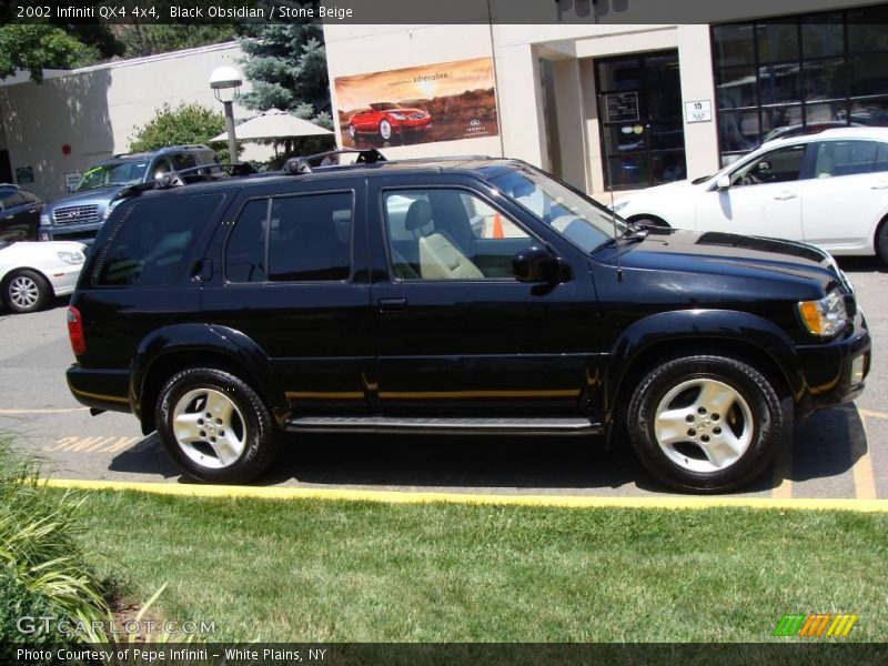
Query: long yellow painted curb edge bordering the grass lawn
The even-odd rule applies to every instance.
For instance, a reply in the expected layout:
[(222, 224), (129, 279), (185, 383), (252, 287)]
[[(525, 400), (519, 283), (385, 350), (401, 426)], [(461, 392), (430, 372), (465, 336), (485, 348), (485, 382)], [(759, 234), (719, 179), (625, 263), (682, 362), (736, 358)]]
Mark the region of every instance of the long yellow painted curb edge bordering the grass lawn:
[(160, 495), (186, 497), (254, 497), (261, 500), (337, 500), (351, 502), (380, 502), (386, 504), (484, 504), (517, 506), (552, 506), (573, 508), (668, 508), (698, 509), (783, 508), (783, 509), (839, 509), (855, 512), (888, 512), (888, 500), (795, 498), (768, 500), (764, 497), (587, 497), (577, 495), (477, 495), (463, 493), (412, 493), (397, 491), (353, 491), (331, 488), (301, 488), (280, 486), (223, 486), (178, 483), (139, 483), (117, 481), (79, 481), (49, 478), (43, 482), (56, 488), (85, 491), (138, 491)]

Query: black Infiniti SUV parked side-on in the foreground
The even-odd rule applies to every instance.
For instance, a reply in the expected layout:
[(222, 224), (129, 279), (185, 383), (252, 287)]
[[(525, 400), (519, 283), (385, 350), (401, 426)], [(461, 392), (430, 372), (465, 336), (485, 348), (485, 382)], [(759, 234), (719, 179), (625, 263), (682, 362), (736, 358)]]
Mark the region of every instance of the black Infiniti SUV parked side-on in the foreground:
[(124, 199), (71, 301), (74, 396), (210, 482), (284, 433), (602, 434), (725, 492), (864, 389), (816, 248), (627, 225), (515, 160), (365, 161)]

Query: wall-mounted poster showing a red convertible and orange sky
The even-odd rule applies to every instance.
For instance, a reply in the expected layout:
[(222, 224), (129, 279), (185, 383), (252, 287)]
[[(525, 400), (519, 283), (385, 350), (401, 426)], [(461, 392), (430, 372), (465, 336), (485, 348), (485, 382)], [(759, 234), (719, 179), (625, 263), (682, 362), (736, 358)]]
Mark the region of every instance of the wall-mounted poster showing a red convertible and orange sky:
[(346, 148), (500, 133), (490, 58), (340, 77), (334, 84)]

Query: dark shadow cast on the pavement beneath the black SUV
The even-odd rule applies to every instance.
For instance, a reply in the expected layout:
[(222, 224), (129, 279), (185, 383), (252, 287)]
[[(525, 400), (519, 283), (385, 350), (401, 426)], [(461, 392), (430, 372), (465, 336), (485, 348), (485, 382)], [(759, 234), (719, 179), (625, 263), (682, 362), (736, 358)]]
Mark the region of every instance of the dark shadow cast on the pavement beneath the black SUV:
[[(867, 451), (857, 408), (818, 412), (796, 425), (788, 478), (838, 476)], [(179, 477), (195, 483), (169, 458), (157, 434), (118, 454), (111, 472)], [(158, 478), (160, 481), (161, 478)], [(774, 471), (741, 488), (767, 493), (781, 478)], [(638, 464), (627, 445), (605, 447), (603, 437), (506, 437), (445, 435), (290, 435), (272, 470), (254, 484), (376, 490), (579, 491), (632, 486), (669, 493)], [(623, 493), (620, 493), (623, 494)]]

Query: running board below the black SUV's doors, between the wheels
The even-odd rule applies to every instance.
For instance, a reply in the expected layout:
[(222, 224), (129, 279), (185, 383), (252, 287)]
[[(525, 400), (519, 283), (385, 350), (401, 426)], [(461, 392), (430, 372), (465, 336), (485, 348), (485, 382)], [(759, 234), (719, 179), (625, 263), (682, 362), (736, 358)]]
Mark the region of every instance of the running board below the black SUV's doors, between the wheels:
[(300, 433), (426, 433), (460, 435), (589, 435), (603, 434), (599, 423), (582, 416), (538, 418), (473, 418), (462, 416), (300, 416), (286, 422)]

